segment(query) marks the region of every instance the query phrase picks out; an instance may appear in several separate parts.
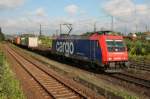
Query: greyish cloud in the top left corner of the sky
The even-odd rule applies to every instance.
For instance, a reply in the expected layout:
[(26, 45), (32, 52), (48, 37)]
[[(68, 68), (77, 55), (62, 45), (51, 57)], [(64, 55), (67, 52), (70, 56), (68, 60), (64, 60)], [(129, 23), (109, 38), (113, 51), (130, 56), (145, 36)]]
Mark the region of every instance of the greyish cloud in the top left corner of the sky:
[(24, 3), (24, 0), (0, 0), (0, 10), (16, 8)]

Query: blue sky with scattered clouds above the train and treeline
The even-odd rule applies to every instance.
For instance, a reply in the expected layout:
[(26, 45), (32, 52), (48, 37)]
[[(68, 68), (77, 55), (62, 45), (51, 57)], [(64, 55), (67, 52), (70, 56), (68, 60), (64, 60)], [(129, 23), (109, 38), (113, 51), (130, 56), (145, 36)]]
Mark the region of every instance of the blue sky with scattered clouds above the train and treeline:
[(6, 34), (38, 34), (40, 24), (44, 35), (59, 34), (66, 23), (72, 34), (91, 32), (94, 25), (97, 31), (147, 31), (149, 6), (150, 0), (0, 0), (0, 27)]

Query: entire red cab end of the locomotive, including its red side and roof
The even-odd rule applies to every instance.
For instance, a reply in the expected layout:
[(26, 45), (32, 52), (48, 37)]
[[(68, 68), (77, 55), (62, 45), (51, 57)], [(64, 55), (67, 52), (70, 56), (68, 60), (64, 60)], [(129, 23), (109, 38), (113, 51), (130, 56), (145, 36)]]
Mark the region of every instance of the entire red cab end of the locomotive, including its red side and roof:
[(90, 39), (98, 40), (105, 71), (118, 72), (128, 65), (128, 52), (122, 36), (95, 33)]

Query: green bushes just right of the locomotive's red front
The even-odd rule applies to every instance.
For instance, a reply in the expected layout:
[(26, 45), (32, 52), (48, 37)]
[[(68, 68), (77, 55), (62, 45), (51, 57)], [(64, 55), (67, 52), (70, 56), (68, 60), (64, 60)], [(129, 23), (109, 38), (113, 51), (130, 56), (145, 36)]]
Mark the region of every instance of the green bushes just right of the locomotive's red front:
[(149, 71), (150, 41), (143, 39), (125, 39), (125, 42), (128, 48), (130, 67)]

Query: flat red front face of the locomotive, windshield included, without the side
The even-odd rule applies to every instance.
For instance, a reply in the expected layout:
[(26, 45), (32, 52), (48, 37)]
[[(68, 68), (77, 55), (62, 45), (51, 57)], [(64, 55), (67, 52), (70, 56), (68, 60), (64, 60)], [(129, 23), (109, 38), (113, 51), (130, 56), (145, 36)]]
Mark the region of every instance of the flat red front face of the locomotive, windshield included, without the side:
[(128, 53), (122, 36), (107, 36), (106, 37), (107, 59), (106, 66), (108, 67), (125, 67), (128, 62)]

